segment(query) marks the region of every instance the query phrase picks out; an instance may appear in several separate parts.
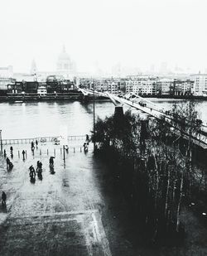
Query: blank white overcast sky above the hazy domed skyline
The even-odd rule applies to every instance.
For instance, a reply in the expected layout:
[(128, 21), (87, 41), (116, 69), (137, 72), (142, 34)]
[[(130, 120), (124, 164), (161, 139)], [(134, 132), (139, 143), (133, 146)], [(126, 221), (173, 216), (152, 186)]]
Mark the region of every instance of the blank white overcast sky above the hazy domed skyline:
[(0, 66), (55, 70), (65, 45), (77, 69), (207, 70), (206, 0), (0, 1)]

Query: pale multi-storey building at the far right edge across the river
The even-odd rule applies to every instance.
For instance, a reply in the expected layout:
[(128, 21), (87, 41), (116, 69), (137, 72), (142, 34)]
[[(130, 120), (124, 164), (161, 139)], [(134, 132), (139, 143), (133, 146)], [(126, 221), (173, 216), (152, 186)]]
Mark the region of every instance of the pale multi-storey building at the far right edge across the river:
[(194, 81), (193, 93), (196, 96), (207, 96), (207, 74), (191, 75), (190, 79)]

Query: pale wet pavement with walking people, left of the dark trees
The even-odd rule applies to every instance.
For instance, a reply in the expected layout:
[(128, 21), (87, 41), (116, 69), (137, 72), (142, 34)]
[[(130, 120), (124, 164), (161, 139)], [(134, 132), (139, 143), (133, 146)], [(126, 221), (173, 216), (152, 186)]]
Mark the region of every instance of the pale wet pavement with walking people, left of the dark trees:
[[(7, 208), (0, 206), (0, 254), (111, 255), (99, 211), (102, 198), (93, 174), (93, 153), (66, 153), (64, 164), (60, 146), (55, 147), (52, 174), (52, 147), (40, 145), (34, 155), (30, 145), (14, 147), (11, 171), (5, 158), (0, 159), (0, 189), (7, 193)], [(26, 161), (17, 153), (23, 148)], [(37, 160), (43, 163), (43, 179), (36, 176), (31, 182), (28, 167), (36, 167)]]

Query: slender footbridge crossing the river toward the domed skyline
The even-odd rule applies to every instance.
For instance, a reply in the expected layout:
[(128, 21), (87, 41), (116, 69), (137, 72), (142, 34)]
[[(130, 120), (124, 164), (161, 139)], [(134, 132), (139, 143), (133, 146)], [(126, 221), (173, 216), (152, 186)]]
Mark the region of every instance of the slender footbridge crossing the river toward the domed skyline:
[[(204, 149), (207, 149), (207, 133), (206, 133), (206, 127), (204, 125), (201, 126), (201, 130), (199, 133), (193, 134), (185, 132), (184, 130), (181, 130), (180, 127), (176, 126), (176, 123), (181, 122), (181, 120), (176, 120), (172, 114), (171, 109), (167, 108), (160, 108), (158, 104), (152, 103), (152, 101), (148, 99), (144, 99), (141, 96), (139, 96), (136, 93), (127, 93), (127, 94), (110, 94), (108, 92), (98, 92), (95, 90), (90, 89), (79, 89), (84, 95), (99, 95), (103, 97), (107, 97), (108, 99), (111, 99), (113, 104), (116, 107), (122, 107), (123, 105), (128, 105), (132, 107), (133, 109), (137, 109), (141, 111), (144, 114), (147, 114), (148, 116), (160, 120), (164, 120), (166, 123), (168, 123), (171, 128), (175, 130), (175, 133), (179, 137), (183, 137), (187, 140), (191, 140), (195, 145), (202, 147)], [(186, 127), (193, 127), (191, 123), (185, 123)]]

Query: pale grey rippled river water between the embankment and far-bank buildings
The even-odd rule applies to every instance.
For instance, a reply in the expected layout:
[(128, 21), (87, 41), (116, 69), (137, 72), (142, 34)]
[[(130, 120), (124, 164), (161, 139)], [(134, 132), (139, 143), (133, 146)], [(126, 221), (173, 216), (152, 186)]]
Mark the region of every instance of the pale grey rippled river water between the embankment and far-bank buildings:
[[(171, 108), (172, 104), (183, 104), (185, 100), (151, 99), (161, 108)], [(207, 101), (197, 101), (200, 118), (207, 123)], [(124, 107), (127, 110), (128, 107)], [(114, 113), (110, 101), (95, 102), (96, 118), (104, 118)], [(31, 102), (23, 104), (0, 104), (0, 129), (2, 138), (34, 138), (58, 136), (62, 127), (67, 127), (68, 135), (84, 135), (93, 128), (93, 103), (74, 102)]]

